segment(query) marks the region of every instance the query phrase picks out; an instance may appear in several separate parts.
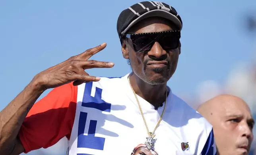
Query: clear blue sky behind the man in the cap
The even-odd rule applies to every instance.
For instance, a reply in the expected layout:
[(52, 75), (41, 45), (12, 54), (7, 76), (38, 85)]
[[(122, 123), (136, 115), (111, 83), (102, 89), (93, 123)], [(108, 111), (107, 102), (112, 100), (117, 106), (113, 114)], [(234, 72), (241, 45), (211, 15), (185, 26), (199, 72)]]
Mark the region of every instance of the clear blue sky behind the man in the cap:
[[(103, 42), (107, 47), (92, 59), (115, 66), (87, 72), (110, 77), (130, 72), (122, 57), (116, 21), (123, 9), (137, 2), (0, 0), (0, 110), (37, 73)], [(256, 14), (255, 0), (163, 2), (173, 6), (183, 21), (181, 55), (168, 82), (174, 93), (197, 96), (202, 81), (225, 83), (234, 66), (256, 60), (255, 33), (246, 29), (246, 15)]]

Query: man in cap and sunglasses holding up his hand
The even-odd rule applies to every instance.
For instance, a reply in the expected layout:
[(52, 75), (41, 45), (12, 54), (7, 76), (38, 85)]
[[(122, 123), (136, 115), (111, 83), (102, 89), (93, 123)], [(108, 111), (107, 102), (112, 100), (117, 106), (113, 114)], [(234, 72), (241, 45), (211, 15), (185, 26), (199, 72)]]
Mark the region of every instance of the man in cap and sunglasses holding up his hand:
[[(88, 60), (105, 43), (39, 73), (0, 113), (0, 154), (47, 148), (66, 136), (69, 155), (129, 155), (141, 143), (159, 155), (214, 155), (212, 126), (167, 87), (181, 28), (176, 10), (161, 2), (122, 11), (117, 31), (132, 73), (99, 78), (85, 72), (114, 66)], [(49, 88), (55, 89), (34, 104)]]

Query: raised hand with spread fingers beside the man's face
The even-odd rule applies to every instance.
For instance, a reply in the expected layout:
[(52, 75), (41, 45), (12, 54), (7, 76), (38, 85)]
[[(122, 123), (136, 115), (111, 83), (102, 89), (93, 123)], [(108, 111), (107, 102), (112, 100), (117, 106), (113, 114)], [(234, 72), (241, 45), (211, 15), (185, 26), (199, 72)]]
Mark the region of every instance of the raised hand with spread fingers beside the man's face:
[(72, 81), (74, 81), (73, 85), (80, 85), (87, 81), (99, 81), (99, 77), (89, 76), (85, 70), (89, 68), (111, 68), (114, 66), (112, 62), (88, 60), (105, 47), (106, 43), (103, 43), (97, 47), (87, 49), (80, 55), (70, 57), (70, 59), (40, 72), (34, 77), (33, 81), (37, 83), (40, 89), (45, 90)]

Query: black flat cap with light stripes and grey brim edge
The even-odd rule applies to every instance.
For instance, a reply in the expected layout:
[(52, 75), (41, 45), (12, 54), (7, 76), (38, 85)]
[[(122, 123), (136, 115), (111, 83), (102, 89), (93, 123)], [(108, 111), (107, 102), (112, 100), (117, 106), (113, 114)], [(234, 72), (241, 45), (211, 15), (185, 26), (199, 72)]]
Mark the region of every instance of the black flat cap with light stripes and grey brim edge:
[(182, 20), (175, 8), (163, 2), (145, 1), (134, 4), (120, 13), (116, 26), (120, 41), (127, 30), (148, 17), (163, 17), (172, 21), (179, 30), (182, 29)]

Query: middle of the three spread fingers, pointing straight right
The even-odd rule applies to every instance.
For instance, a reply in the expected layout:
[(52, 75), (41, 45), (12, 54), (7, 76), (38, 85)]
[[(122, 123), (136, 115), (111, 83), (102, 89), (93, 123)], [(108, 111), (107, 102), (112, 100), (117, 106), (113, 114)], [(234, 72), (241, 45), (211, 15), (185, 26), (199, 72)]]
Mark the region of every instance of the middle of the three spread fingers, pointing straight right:
[(111, 68), (114, 66), (113, 62), (103, 62), (103, 61), (96, 61), (96, 60), (87, 60), (87, 61), (80, 61), (80, 65), (83, 69), (89, 68)]

